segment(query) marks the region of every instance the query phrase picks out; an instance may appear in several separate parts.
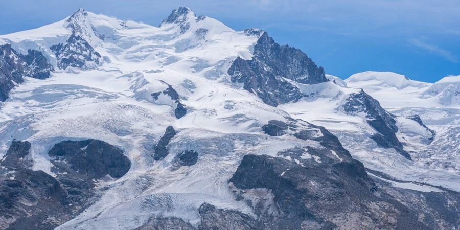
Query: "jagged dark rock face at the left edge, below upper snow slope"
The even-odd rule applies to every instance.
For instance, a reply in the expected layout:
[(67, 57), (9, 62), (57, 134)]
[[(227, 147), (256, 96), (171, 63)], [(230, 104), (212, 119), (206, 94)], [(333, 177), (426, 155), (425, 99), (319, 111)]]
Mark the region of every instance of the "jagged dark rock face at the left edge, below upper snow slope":
[(45, 79), (52, 71), (53, 66), (40, 51), (29, 50), (23, 55), (10, 44), (0, 45), (0, 101), (5, 101), (14, 84), (24, 82), (24, 77)]

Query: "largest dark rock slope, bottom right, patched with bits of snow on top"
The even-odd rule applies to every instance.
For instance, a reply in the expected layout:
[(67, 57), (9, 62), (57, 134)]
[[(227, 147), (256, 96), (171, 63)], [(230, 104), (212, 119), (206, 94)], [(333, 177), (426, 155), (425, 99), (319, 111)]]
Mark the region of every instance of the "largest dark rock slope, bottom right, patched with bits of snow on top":
[[(320, 157), (320, 162), (316, 158), (305, 157), (306, 154)], [(430, 229), (435, 225), (428, 216), (439, 217), (436, 211), (419, 211), (407, 206), (423, 205), (426, 201), (411, 199), (406, 201), (412, 204), (401, 203), (380, 190), (357, 160), (340, 160), (329, 150), (311, 147), (287, 150), (280, 152), (279, 156), (283, 158), (245, 155), (229, 180), (237, 188), (237, 197), (247, 200), (259, 214), (257, 218), (267, 220), (264, 226), (268, 228), (348, 229), (360, 226), (367, 229)], [(296, 159), (295, 162), (285, 159), (287, 156)], [(385, 188), (396, 194), (391, 187)], [(261, 189), (271, 191), (275, 203), (271, 207), (277, 210), (265, 210), (267, 205), (258, 203), (260, 200), (250, 202), (250, 191)], [(423, 199), (429, 199), (422, 192), (414, 191), (411, 195), (420, 194), (423, 194)], [(424, 208), (431, 209), (426, 204)], [(454, 216), (458, 215), (455, 209), (449, 210), (455, 213)], [(420, 215), (426, 215), (426, 218), (421, 220)], [(450, 224), (456, 221), (446, 217), (441, 219)]]

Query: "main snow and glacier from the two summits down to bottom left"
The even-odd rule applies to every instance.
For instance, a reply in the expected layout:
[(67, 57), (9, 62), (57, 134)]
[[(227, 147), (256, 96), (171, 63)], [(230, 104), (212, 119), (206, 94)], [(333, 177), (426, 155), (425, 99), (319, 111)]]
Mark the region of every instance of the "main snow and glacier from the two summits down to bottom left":
[[(93, 70), (56, 68), (46, 80), (26, 78), (0, 104), (0, 157), (13, 139), (29, 141), (33, 169), (54, 175), (47, 154), (54, 144), (98, 139), (122, 149), (132, 162), (122, 178), (99, 181), (100, 199), (58, 228), (119, 229), (120, 223), (136, 228), (153, 216), (175, 216), (197, 226), (204, 202), (252, 215), (227, 182), (243, 155), (276, 156), (306, 144), (263, 134), (262, 125), (288, 114), (229, 81), (231, 62), (237, 56), (250, 59), (258, 37), (213, 18), (198, 20), (193, 13), (187, 15), (185, 32), (176, 24), (153, 27), (91, 12), (77, 19), (81, 35), (109, 61)], [(56, 64), (49, 47), (70, 36), (68, 23), (66, 18), (0, 40), (21, 52), (39, 49)], [(186, 106), (185, 117), (174, 117), (169, 98), (152, 99), (166, 84)], [(155, 162), (153, 145), (169, 125), (178, 133), (170, 154)], [(193, 167), (177, 166), (175, 157), (184, 150), (198, 152)]]

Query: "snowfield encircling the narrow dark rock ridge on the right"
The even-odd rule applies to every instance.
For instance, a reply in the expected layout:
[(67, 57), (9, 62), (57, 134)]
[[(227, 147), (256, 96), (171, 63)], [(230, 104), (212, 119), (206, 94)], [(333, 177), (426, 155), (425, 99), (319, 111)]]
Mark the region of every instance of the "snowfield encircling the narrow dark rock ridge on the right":
[[(327, 128), (367, 168), (399, 180), (424, 182), (460, 191), (460, 158), (455, 157), (460, 154), (460, 141), (455, 139), (460, 125), (460, 110), (454, 109), (455, 106), (439, 107), (442, 105), (438, 98), (421, 98), (422, 92), (430, 87), (429, 83), (415, 82), (389, 72), (365, 72), (353, 76), (352, 80), (346, 80), (348, 88), (332, 82), (315, 85), (296, 83), (308, 97), (295, 103), (279, 105), (278, 108), (293, 118)], [(398, 79), (387, 79), (390, 77)], [(383, 108), (398, 115), (397, 137), (413, 160), (405, 159), (393, 149), (377, 146), (370, 139), (376, 131), (367, 124), (366, 114), (352, 116), (341, 109), (344, 100), (352, 93), (359, 93), (360, 88), (379, 100)], [(426, 116), (430, 116), (427, 125), (436, 131), (433, 142), (429, 143), (431, 133), (428, 130), (416, 121), (405, 118), (415, 114), (420, 115), (424, 122)], [(439, 122), (447, 130), (431, 126), (430, 122)]]

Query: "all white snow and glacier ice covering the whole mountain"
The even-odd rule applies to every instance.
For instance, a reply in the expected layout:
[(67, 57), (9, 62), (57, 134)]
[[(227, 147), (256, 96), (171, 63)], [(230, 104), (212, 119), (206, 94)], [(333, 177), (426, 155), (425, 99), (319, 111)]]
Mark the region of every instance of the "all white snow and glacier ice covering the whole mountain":
[[(38, 49), (56, 64), (49, 47), (65, 42), (70, 36), (67, 19), (34, 30), (1, 35), (0, 42), (11, 43), (20, 52)], [(284, 120), (289, 115), (326, 127), (337, 135), (353, 157), (370, 169), (405, 181), (460, 191), (458, 157), (447, 170), (436, 154), (411, 153), (415, 160), (409, 161), (394, 150), (379, 148), (369, 138), (375, 130), (365, 121), (365, 114), (352, 116), (340, 109), (350, 94), (364, 88), (383, 107), (401, 116), (397, 120), (398, 137), (402, 141), (411, 140), (407, 148), (424, 152), (433, 145), (444, 145), (446, 140), (440, 140), (440, 133), (450, 132), (447, 141), (453, 146), (451, 149), (457, 147), (458, 155), (460, 138), (455, 140), (458, 132), (452, 132), (451, 128), (460, 119), (447, 119), (452, 118), (449, 114), (460, 117), (460, 110), (452, 110), (451, 101), (440, 114), (436, 106), (443, 106), (441, 93), (422, 97), (432, 86), (446, 82), (456, 84), (453, 81), (457, 78), (431, 85), (389, 72), (365, 72), (344, 82), (337, 80), (337, 84), (293, 82), (309, 97), (271, 107), (230, 82), (227, 75), (237, 56), (252, 58), (258, 37), (246, 36), (210, 17), (198, 20), (192, 12), (187, 14), (189, 28), (185, 32), (176, 24), (154, 27), (91, 12), (80, 19), (78, 23), (83, 27), (85, 39), (109, 61), (93, 70), (56, 68), (46, 80), (27, 78), (0, 104), (0, 157), (13, 139), (29, 141), (33, 169), (52, 174), (47, 153), (54, 144), (63, 140), (98, 139), (121, 148), (132, 162), (131, 169), (122, 178), (100, 181), (101, 198), (60, 229), (102, 229), (102, 226), (119, 229), (120, 225), (135, 228), (152, 216), (175, 216), (197, 226), (200, 221), (197, 209), (204, 202), (252, 215), (247, 204), (234, 199), (227, 181), (245, 154), (276, 156), (279, 151), (305, 146), (305, 141), (289, 135), (263, 134), (262, 125), (269, 120)], [(177, 90), (188, 110), (185, 117), (174, 117), (174, 102), (170, 99), (162, 96), (154, 101), (151, 98), (152, 93), (166, 89), (164, 82)], [(413, 114), (415, 107), (436, 107), (420, 114), (422, 119), (431, 114), (430, 121), (443, 123), (442, 127), (429, 125), (437, 132), (432, 144), (423, 143), (428, 136), (425, 129), (402, 116)], [(447, 128), (446, 122), (450, 125)], [(169, 125), (178, 134), (170, 142), (170, 154), (155, 162), (152, 147)], [(460, 122), (456, 123), (458, 126)], [(313, 141), (308, 144), (320, 147)], [(198, 163), (178, 168), (175, 156), (190, 149), (198, 152)]]

